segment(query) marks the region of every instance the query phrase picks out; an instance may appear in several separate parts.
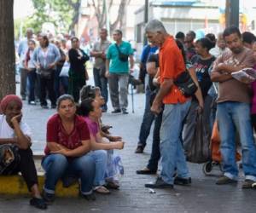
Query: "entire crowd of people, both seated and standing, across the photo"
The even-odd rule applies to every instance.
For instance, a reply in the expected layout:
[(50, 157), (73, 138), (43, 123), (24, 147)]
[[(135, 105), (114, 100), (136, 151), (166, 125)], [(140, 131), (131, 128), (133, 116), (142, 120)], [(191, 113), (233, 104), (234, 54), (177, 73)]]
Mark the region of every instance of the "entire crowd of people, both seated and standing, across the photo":
[[(196, 115), (201, 113), (207, 135), (212, 134), (213, 124), (218, 124), (224, 173), (216, 184), (238, 180), (237, 132), (245, 174), (242, 187), (251, 188), (256, 182), (256, 84), (238, 81), (231, 73), (256, 68), (256, 37), (230, 26), (217, 38), (209, 33), (195, 40), (193, 31), (186, 35), (178, 32), (174, 38), (159, 20), (150, 20), (145, 33), (148, 45), (143, 49), (139, 78), (146, 98), (136, 153), (143, 153), (153, 123), (154, 134), (148, 165), (137, 174), (156, 174), (161, 158), (160, 176), (145, 187), (191, 184), (184, 149), (193, 140)], [(93, 192), (108, 194), (109, 188), (119, 188), (115, 178), (119, 158), (113, 149), (123, 149), (124, 141), (109, 134), (108, 126), (102, 124), (102, 112), (108, 111), (109, 84), (113, 113), (128, 113), (128, 81), (134, 60), (131, 44), (122, 40), (121, 31), (113, 32), (114, 43), (107, 37), (107, 30), (101, 29), (90, 55), (80, 48), (78, 37), (70, 38), (71, 48), (67, 49), (66, 40), (50, 39), (44, 33), (39, 33), (36, 41), (32, 29), (20, 43), (21, 99), (30, 105), (39, 100), (42, 108), (49, 108), (49, 98), (51, 108), (57, 110), (46, 127), (43, 192), (38, 189), (30, 148), (31, 129), (22, 118), (22, 100), (17, 95), (6, 95), (0, 103), (0, 148), (13, 153), (11, 158), (1, 156), (9, 164), (0, 172), (20, 171), (32, 193), (30, 204), (39, 209), (54, 201), (59, 180), (64, 187), (79, 182), (79, 194), (87, 200), (96, 199)], [(95, 86), (86, 85), (85, 62), (90, 56), (95, 58)], [(175, 83), (183, 72), (189, 72), (197, 87), (189, 97)]]

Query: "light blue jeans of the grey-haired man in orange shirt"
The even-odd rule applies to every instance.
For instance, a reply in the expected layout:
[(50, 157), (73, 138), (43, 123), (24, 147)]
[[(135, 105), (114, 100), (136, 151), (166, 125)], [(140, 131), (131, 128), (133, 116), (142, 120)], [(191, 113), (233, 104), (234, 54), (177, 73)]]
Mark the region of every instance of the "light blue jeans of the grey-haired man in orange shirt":
[(162, 157), (160, 176), (168, 184), (173, 184), (175, 168), (177, 168), (177, 176), (189, 177), (189, 168), (180, 135), (183, 130), (183, 120), (189, 112), (190, 102), (166, 104), (163, 112), (160, 128), (160, 153)]

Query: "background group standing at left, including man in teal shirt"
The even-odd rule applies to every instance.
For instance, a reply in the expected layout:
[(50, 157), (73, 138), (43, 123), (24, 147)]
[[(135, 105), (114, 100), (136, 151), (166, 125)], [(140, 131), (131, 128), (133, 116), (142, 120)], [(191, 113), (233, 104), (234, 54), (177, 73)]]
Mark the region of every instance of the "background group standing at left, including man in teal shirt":
[[(32, 29), (27, 29), (26, 38), (18, 46), (20, 57), (20, 95), (30, 105), (40, 102), (47, 109), (56, 107), (56, 99), (63, 94), (73, 95), (79, 102), (79, 91), (86, 84), (89, 75), (86, 61), (94, 58), (93, 76), (105, 104), (103, 112), (108, 111), (108, 85), (113, 113), (127, 114), (128, 80), (133, 69), (133, 49), (131, 43), (122, 40), (122, 32), (115, 30), (111, 43), (108, 31), (101, 29), (100, 39), (94, 43), (90, 54), (81, 49), (78, 37), (52, 37), (39, 32), (37, 37)], [(129, 66), (130, 62), (130, 66)]]

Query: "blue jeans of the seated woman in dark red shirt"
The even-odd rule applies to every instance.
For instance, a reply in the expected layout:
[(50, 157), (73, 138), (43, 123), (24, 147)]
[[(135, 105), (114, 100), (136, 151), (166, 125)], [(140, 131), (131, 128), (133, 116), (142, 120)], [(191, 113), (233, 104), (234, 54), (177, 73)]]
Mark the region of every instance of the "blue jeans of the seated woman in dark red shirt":
[(79, 177), (81, 193), (85, 195), (92, 193), (95, 163), (90, 155), (67, 158), (62, 154), (50, 154), (44, 158), (42, 166), (46, 172), (44, 182), (44, 191), (46, 193), (55, 193), (57, 181), (64, 175), (67, 176), (69, 174)]

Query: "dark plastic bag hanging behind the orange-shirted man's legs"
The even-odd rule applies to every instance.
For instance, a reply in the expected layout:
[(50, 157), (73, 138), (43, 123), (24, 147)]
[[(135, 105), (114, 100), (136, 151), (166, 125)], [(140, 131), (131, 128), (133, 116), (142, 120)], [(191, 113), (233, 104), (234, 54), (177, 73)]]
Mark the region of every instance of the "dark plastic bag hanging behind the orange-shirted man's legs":
[(187, 160), (191, 163), (202, 164), (211, 160), (210, 135), (203, 124), (203, 115), (197, 112), (195, 131), (190, 144), (186, 147)]

